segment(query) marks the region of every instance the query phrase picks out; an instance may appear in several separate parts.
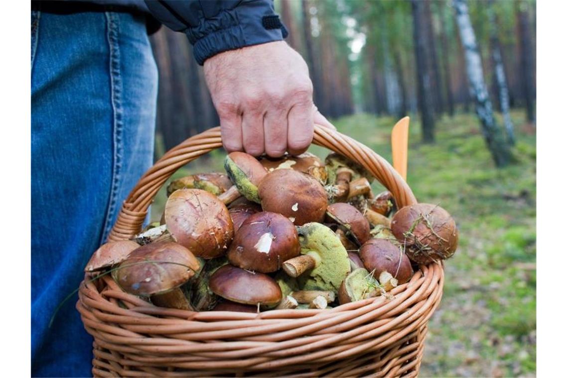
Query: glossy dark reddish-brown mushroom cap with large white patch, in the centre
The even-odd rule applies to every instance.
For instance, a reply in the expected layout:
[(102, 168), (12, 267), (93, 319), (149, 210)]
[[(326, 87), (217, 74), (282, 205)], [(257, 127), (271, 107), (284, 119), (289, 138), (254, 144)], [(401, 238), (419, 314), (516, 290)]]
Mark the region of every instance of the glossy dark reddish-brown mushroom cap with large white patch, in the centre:
[(300, 254), (298, 231), (290, 219), (263, 211), (243, 222), (227, 257), (243, 269), (270, 273)]

